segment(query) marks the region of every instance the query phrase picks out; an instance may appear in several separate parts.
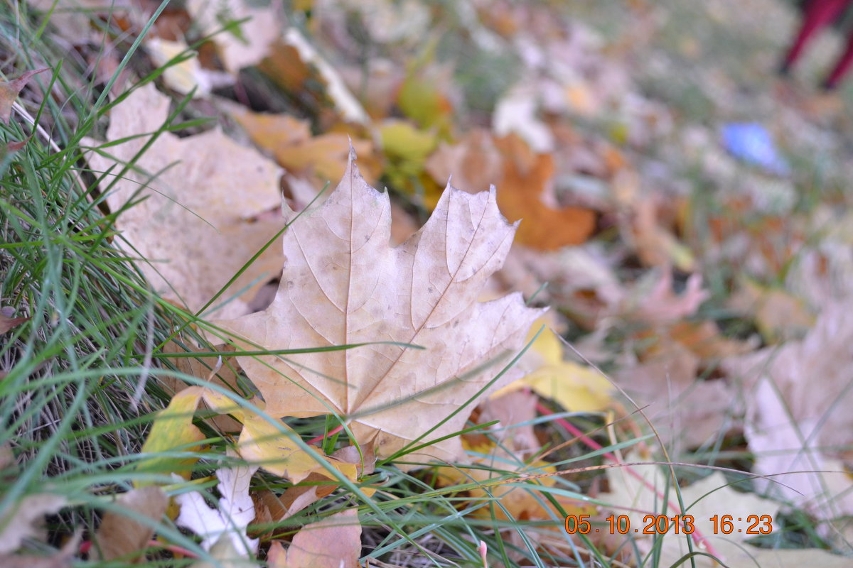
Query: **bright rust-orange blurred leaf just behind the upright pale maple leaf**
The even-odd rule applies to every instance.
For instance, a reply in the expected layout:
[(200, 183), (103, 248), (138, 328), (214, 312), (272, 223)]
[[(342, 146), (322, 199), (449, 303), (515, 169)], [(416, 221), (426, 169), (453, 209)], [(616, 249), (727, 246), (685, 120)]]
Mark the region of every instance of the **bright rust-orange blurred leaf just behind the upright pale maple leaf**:
[(497, 203), (510, 221), (524, 219), (516, 237), (520, 244), (538, 250), (555, 250), (581, 244), (595, 229), (595, 213), (590, 209), (554, 209), (542, 197), (554, 177), (554, 158), (536, 154), (518, 136), (496, 141), (504, 166)]

